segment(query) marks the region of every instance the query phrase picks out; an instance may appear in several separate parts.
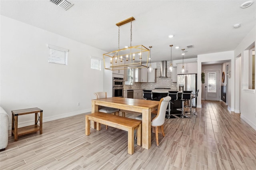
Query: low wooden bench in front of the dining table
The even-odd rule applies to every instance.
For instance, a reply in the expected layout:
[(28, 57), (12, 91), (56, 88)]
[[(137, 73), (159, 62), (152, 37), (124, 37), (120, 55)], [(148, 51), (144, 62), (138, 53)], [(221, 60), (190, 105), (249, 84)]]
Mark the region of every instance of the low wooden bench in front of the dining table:
[(85, 115), (85, 134), (90, 135), (90, 121), (96, 122), (96, 130), (100, 124), (128, 131), (128, 154), (134, 153), (134, 129), (137, 129), (137, 145), (141, 145), (141, 121), (106, 113), (95, 112)]

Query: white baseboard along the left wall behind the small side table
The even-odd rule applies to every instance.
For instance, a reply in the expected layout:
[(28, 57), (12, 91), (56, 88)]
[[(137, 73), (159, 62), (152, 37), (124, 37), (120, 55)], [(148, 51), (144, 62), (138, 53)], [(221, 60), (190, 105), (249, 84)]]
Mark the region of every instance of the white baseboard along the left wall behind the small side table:
[[(51, 117), (43, 117), (43, 123), (44, 122), (49, 122), (49, 121), (54, 121), (54, 120), (57, 120), (57, 119), (62, 119), (62, 118), (65, 118), (65, 117), (80, 115), (80, 114), (88, 113), (88, 112), (91, 112), (91, 111), (92, 111), (91, 109), (84, 109), (84, 110), (81, 110), (81, 111), (75, 111), (75, 112), (64, 113), (64, 114), (60, 114), (60, 115), (54, 115), (54, 116), (51, 116)], [(10, 123), (12, 123), (12, 121), (10, 121)], [(34, 120), (33, 121), (19, 122), (18, 127), (26, 127), (26, 126), (29, 126), (29, 125), (34, 125), (34, 123), (35, 123)], [(8, 129), (9, 130), (12, 129), (12, 124), (9, 125)]]

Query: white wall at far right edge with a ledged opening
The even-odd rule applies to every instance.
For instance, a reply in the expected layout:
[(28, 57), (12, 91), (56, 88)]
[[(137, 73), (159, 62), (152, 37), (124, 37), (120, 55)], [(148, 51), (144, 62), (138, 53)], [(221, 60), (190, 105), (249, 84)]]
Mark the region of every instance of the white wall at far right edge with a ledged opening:
[(234, 56), (240, 57), (237, 62), (241, 64), (241, 76), (240, 76), (240, 89), (236, 88), (236, 91), (240, 90), (240, 113), (241, 119), (246, 121), (252, 128), (256, 130), (256, 94), (255, 90), (248, 89), (249, 82), (249, 63), (248, 63), (248, 47), (250, 45), (255, 46), (256, 40), (256, 27), (254, 27), (248, 35), (242, 40), (242, 42), (234, 50)]

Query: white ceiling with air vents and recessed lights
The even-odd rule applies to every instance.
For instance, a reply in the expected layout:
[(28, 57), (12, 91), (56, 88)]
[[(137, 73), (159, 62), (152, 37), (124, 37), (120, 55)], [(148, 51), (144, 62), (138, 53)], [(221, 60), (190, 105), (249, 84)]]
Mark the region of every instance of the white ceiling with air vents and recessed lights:
[[(118, 49), (116, 23), (130, 17), (132, 45), (152, 45), (152, 62), (234, 50), (256, 24), (247, 0), (70, 0), (63, 10), (49, 0), (1, 0), (1, 15), (97, 47)], [(240, 28), (233, 28), (241, 24)], [(168, 38), (173, 34), (174, 38)], [(130, 24), (120, 26), (120, 48), (130, 46)], [(187, 48), (194, 45), (194, 48)]]

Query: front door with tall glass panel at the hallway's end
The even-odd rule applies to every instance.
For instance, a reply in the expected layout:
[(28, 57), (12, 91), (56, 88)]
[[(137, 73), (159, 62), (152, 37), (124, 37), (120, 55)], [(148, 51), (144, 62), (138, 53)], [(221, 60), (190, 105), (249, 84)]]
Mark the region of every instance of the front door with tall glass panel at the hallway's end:
[(205, 71), (205, 99), (220, 100), (220, 71), (206, 70)]

